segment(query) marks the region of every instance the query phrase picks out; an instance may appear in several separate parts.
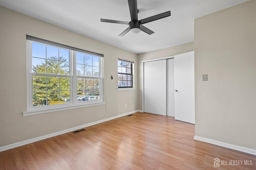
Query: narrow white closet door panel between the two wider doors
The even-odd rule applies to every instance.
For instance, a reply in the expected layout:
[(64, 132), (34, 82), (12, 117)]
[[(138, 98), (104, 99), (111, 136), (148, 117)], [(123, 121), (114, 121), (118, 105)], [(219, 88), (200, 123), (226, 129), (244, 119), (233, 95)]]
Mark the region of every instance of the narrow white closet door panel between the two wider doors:
[(167, 59), (167, 116), (174, 117), (174, 59)]

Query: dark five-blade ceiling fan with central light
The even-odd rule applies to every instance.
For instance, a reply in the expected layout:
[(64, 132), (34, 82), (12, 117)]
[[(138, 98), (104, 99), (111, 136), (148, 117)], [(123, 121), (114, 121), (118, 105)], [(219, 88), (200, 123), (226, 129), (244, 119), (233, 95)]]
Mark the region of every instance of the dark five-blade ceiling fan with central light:
[(126, 30), (124, 30), (124, 32), (122, 32), (119, 36), (124, 36), (129, 31), (133, 32), (134, 34), (138, 34), (140, 32), (140, 30), (143, 31), (143, 32), (146, 32), (149, 35), (151, 35), (154, 32), (152, 30), (146, 28), (142, 24), (146, 24), (148, 22), (152, 22), (152, 21), (155, 21), (155, 20), (159, 20), (161, 18), (171, 16), (171, 12), (167, 11), (167, 12), (163, 12), (161, 14), (150, 16), (148, 18), (144, 18), (142, 20), (138, 20), (139, 10), (137, 8), (137, 0), (128, 0), (128, 4), (129, 4), (129, 9), (130, 9), (130, 15), (131, 15), (131, 21), (130, 22), (117, 21), (117, 20), (108, 20), (108, 19), (100, 18), (101, 22), (109, 22), (109, 23), (115, 23), (115, 24), (129, 25), (129, 27)]

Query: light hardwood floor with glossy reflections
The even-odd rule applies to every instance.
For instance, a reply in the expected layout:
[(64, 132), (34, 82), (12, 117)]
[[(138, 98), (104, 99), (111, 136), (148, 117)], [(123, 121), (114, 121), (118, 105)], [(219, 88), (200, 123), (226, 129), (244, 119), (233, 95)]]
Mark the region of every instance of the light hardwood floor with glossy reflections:
[(148, 113), (108, 122), (0, 152), (0, 169), (214, 169), (214, 158), (252, 160), (251, 166), (216, 169), (256, 170), (256, 156), (196, 141), (194, 125)]

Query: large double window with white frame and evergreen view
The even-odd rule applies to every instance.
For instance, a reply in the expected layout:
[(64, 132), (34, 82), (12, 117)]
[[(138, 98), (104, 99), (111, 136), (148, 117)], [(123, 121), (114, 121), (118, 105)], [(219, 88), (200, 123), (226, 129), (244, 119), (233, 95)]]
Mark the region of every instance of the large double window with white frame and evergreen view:
[(103, 101), (103, 55), (27, 35), (28, 111)]

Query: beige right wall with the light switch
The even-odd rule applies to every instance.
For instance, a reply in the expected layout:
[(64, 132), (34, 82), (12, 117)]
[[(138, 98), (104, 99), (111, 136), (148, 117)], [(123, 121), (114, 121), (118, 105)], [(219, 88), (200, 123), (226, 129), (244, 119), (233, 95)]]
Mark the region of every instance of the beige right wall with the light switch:
[(196, 136), (256, 149), (255, 9), (251, 0), (195, 20)]

